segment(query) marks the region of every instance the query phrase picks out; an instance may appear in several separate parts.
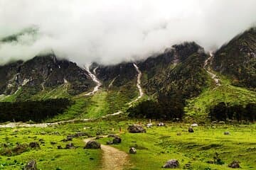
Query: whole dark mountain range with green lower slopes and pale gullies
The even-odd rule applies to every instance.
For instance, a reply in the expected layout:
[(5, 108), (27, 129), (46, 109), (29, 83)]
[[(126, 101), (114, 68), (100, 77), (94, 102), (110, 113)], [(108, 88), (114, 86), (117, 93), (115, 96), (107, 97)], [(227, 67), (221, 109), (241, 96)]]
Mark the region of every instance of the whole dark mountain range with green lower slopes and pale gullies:
[(213, 55), (183, 42), (145, 60), (82, 69), (51, 52), (0, 66), (0, 101), (70, 99), (53, 120), (122, 112), (164, 120), (254, 120), (255, 49), (252, 28)]

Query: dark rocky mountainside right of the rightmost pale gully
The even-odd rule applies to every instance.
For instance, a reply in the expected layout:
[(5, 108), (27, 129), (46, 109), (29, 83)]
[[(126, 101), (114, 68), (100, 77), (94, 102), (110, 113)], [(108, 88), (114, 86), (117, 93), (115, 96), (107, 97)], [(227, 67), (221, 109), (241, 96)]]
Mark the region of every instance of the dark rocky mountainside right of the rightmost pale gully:
[(250, 28), (215, 52), (213, 70), (236, 86), (256, 88), (256, 28)]

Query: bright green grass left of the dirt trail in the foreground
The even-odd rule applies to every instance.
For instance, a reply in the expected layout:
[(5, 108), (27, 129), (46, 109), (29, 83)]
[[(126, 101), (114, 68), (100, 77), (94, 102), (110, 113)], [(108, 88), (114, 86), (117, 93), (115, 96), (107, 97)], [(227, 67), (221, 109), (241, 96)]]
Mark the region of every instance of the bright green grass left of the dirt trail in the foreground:
[[(11, 146), (16, 142), (21, 144), (45, 141), (41, 149), (29, 149), (16, 156), (0, 156), (0, 169), (21, 169), (26, 162), (35, 159), (38, 169), (97, 169), (100, 164), (101, 152), (82, 149), (85, 144), (75, 138), (72, 142), (75, 149), (57, 149), (58, 145), (65, 147), (68, 142), (60, 142), (67, 135), (67, 131), (55, 128), (14, 128), (1, 129), (0, 142)], [(51, 145), (50, 142), (57, 142)], [(40, 142), (39, 142), (40, 143)], [(3, 146), (0, 147), (3, 149)]]

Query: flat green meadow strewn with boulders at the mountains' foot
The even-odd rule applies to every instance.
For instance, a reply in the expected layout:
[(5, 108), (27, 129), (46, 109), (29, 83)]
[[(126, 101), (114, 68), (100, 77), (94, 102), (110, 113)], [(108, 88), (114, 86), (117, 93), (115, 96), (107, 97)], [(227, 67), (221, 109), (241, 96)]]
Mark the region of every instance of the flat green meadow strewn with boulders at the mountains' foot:
[[(123, 169), (161, 169), (169, 159), (178, 159), (179, 169), (230, 169), (228, 164), (233, 160), (240, 162), (241, 169), (256, 168), (255, 124), (198, 125), (193, 128), (193, 133), (188, 133), (189, 124), (166, 123), (164, 127), (157, 127), (153, 122), (154, 126), (146, 128), (146, 133), (127, 132), (128, 125), (144, 125), (147, 121), (129, 120), (124, 115), (117, 115), (46, 128), (0, 128), (0, 169), (21, 169), (31, 159), (36, 160), (38, 169), (105, 169), (104, 149), (83, 149), (87, 137), (60, 142), (76, 132), (85, 132), (90, 137), (119, 135), (122, 143), (110, 147), (128, 154), (129, 166)], [(224, 132), (230, 132), (230, 135), (224, 135)], [(108, 140), (104, 137), (98, 142), (105, 145)], [(21, 153), (21, 149), (13, 149), (17, 142), (38, 142), (40, 148), (26, 149)], [(73, 142), (75, 149), (57, 149), (58, 145), (64, 148), (70, 142)], [(130, 147), (135, 147), (137, 154), (129, 154)], [(221, 164), (208, 164), (208, 161), (213, 161), (216, 152)], [(114, 164), (111, 157), (107, 159), (113, 160)]]

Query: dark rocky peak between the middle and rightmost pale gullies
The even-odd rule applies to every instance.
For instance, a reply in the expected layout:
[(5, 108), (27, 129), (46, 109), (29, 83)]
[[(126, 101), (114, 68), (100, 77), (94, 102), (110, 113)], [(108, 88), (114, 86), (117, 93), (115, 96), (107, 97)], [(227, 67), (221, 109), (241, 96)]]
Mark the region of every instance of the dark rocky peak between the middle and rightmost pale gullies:
[(176, 93), (196, 96), (206, 86), (207, 74), (203, 63), (207, 55), (195, 42), (184, 42), (163, 54), (149, 57), (139, 64), (144, 73), (144, 89), (149, 94)]

